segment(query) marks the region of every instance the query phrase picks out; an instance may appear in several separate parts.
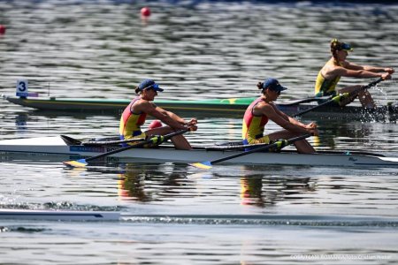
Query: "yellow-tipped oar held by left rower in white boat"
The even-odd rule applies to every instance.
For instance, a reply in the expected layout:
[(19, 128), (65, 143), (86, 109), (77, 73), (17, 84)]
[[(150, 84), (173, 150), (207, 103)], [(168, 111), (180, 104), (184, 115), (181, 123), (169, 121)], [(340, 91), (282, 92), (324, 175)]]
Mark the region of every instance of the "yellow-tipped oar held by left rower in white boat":
[(159, 145), (162, 142), (164, 142), (166, 140), (169, 140), (169, 139), (171, 139), (172, 137), (174, 137), (176, 135), (180, 135), (182, 133), (187, 133), (188, 131), (189, 131), (189, 129), (184, 129), (184, 130), (181, 130), (181, 131), (178, 131), (178, 132), (175, 132), (175, 133), (169, 133), (169, 134), (166, 134), (166, 135), (154, 136), (154, 137), (150, 138), (149, 140), (144, 140), (144, 141), (142, 141), (142, 142), (140, 142), (138, 144), (132, 145), (132, 146), (127, 146), (127, 147), (124, 147), (124, 148), (111, 150), (111, 151), (103, 153), (101, 155), (91, 156), (91, 157), (88, 157), (86, 159), (79, 159), (79, 160), (74, 160), (74, 161), (66, 161), (66, 162), (63, 162), (63, 163), (65, 163), (66, 165), (73, 166), (73, 167), (85, 167), (88, 164), (88, 161), (96, 160), (96, 159), (104, 157), (104, 156), (113, 155), (113, 154), (116, 154), (116, 153), (119, 153), (119, 152), (123, 152), (123, 151), (126, 151), (126, 150), (131, 149), (131, 148), (142, 148), (143, 146), (148, 145), (148, 144)]

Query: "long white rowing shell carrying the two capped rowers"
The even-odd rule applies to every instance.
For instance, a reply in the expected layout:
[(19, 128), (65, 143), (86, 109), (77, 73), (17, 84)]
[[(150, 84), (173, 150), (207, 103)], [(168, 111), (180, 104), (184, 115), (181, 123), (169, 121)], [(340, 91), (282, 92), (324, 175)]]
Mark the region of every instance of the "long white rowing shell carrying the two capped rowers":
[[(68, 138), (72, 139), (72, 138)], [(73, 158), (101, 155), (120, 148), (109, 145), (81, 144), (80, 140), (65, 140), (65, 137), (38, 137), (28, 139), (0, 140), (3, 154), (70, 155)], [(229, 155), (241, 154), (241, 149), (229, 146), (195, 147), (193, 150), (176, 150), (170, 145), (159, 148), (131, 148), (112, 154), (100, 162), (115, 163), (196, 163), (213, 161)], [(6, 155), (1, 155), (6, 156)], [(227, 160), (226, 164), (277, 164), (306, 166), (354, 166), (398, 167), (398, 157), (359, 153), (324, 151), (316, 154), (297, 154), (293, 151), (279, 153), (256, 152)]]

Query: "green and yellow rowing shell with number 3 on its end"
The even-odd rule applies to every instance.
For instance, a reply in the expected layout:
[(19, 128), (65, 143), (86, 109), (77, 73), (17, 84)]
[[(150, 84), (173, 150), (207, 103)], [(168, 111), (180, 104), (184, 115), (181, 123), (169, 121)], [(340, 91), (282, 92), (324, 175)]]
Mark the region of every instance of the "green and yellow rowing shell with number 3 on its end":
[[(4, 99), (8, 102), (18, 104), (20, 106), (33, 108), (36, 110), (62, 110), (74, 112), (96, 112), (96, 113), (120, 113), (126, 108), (129, 100), (120, 99), (101, 99), (101, 98), (57, 98), (57, 97), (18, 97), (6, 96)], [(253, 102), (255, 97), (229, 98), (229, 99), (209, 99), (197, 101), (172, 101), (172, 100), (156, 100), (157, 106), (165, 110), (176, 112), (195, 112), (195, 114), (206, 114), (210, 116), (242, 116), (244, 111)], [(293, 103), (279, 102), (277, 103), (279, 110), (287, 115), (295, 115), (296, 113), (309, 110), (317, 106), (317, 102), (313, 103)], [(366, 120), (395, 120), (398, 117), (398, 106), (388, 104), (379, 106), (376, 109), (364, 109), (361, 106), (348, 105), (341, 108), (338, 105), (327, 105), (317, 110), (312, 110), (304, 114), (306, 117), (326, 117), (330, 118), (359, 118)]]

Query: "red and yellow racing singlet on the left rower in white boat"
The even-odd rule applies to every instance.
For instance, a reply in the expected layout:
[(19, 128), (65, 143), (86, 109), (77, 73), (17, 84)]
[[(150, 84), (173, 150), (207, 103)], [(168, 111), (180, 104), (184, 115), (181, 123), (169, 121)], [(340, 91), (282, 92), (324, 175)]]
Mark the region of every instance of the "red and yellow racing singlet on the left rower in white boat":
[(126, 107), (120, 117), (119, 134), (120, 140), (132, 139), (136, 136), (142, 135), (141, 125), (145, 123), (147, 117), (146, 113), (133, 113), (131, 108), (134, 102), (140, 100), (141, 97), (137, 96)]

